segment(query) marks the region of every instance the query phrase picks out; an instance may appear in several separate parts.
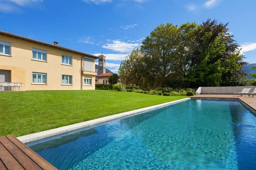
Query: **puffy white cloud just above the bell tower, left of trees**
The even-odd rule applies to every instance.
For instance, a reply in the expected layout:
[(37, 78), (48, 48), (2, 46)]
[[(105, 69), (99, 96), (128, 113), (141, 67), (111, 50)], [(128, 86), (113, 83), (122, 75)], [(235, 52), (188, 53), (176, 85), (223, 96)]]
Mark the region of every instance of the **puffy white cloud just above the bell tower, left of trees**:
[(102, 45), (102, 48), (107, 48), (113, 51), (121, 52), (121, 53), (126, 53), (126, 52), (131, 52), (134, 48), (139, 47), (139, 44), (137, 43), (128, 43), (128, 42), (123, 42), (120, 40), (113, 40), (113, 43), (107, 43), (106, 45)]

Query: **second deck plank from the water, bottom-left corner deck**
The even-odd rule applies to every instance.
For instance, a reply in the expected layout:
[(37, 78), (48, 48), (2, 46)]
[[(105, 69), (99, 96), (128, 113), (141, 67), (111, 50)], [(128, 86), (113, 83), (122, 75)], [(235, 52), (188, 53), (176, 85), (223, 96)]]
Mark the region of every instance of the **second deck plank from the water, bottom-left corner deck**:
[(32, 159), (24, 154), (15, 144), (13, 144), (6, 136), (0, 138), (0, 142), (26, 170), (43, 170), (38, 166), (38, 164), (36, 164)]

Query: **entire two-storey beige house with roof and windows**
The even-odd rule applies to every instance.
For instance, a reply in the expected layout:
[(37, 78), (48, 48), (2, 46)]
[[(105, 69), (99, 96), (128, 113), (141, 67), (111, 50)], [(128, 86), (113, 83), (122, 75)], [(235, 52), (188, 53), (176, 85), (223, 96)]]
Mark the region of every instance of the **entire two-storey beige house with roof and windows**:
[(0, 31), (0, 82), (23, 90), (94, 90), (99, 57)]

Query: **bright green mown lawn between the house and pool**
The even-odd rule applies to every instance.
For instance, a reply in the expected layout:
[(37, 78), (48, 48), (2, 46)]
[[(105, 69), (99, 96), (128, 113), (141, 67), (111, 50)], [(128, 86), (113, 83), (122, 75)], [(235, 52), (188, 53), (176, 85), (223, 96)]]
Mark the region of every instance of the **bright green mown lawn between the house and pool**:
[(23, 136), (183, 98), (99, 90), (0, 92), (0, 136)]

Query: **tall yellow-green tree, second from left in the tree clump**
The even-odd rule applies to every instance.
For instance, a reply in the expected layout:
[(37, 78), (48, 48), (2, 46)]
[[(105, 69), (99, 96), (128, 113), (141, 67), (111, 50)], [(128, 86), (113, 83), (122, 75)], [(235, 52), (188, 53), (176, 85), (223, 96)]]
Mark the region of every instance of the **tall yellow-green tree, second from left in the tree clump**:
[(147, 64), (148, 79), (154, 78), (156, 85), (166, 85), (167, 77), (175, 71), (173, 59), (177, 33), (178, 27), (172, 23), (161, 24), (142, 42), (141, 50)]

